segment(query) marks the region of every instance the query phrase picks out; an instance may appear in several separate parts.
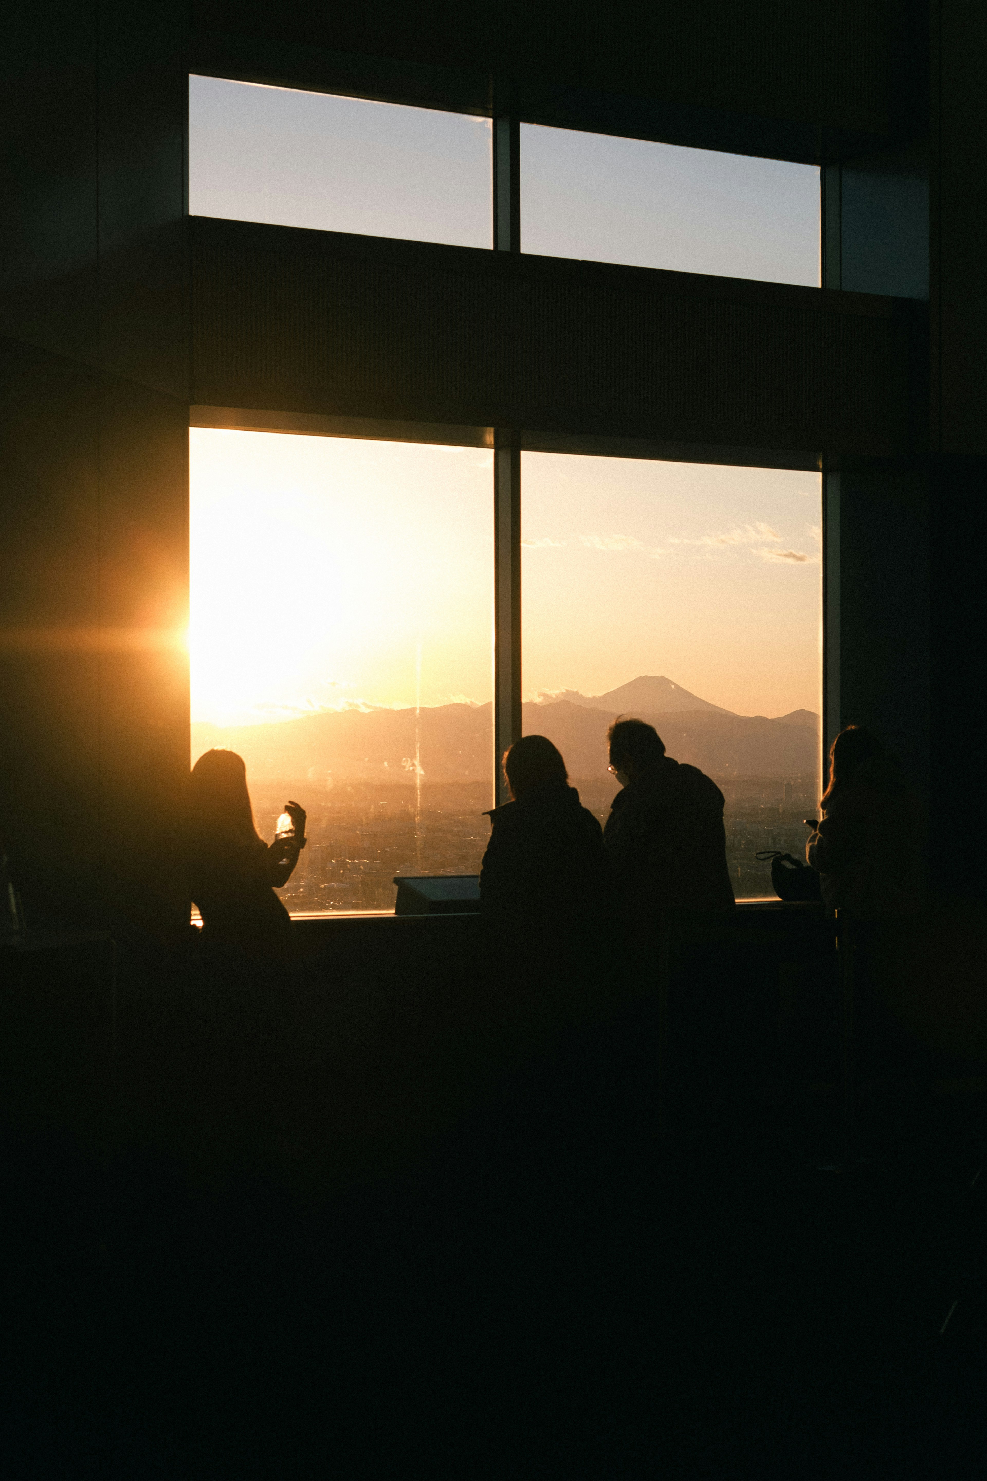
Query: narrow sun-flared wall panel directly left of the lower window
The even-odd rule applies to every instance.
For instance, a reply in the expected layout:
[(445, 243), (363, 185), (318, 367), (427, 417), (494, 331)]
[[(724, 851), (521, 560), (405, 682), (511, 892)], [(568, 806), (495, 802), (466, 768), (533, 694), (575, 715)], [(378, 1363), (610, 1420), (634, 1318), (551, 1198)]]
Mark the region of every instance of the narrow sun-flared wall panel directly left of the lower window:
[(117, 929), (188, 924), (188, 404), (101, 382), (101, 883)]

